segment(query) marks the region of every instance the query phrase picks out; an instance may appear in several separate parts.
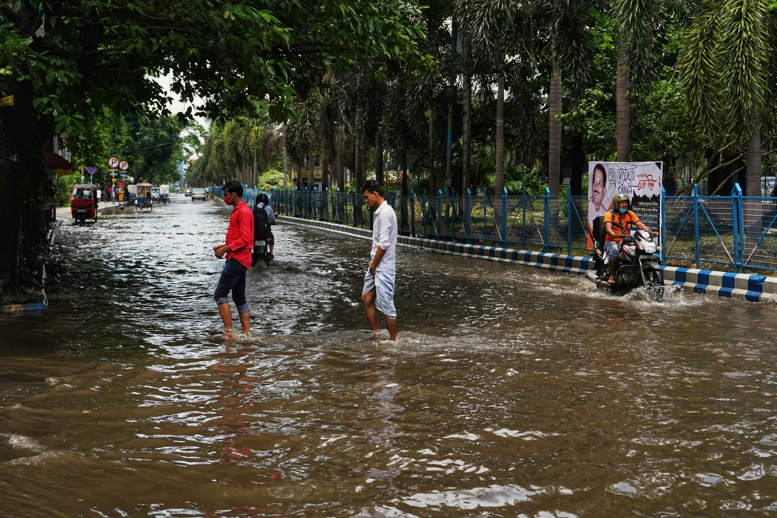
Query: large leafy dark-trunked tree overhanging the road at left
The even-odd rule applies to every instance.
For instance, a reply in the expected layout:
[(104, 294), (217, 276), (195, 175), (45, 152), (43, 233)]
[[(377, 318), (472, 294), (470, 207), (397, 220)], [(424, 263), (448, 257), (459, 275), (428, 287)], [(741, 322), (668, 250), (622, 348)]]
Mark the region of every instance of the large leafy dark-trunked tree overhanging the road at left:
[(214, 118), (267, 97), (270, 116), (281, 120), (294, 88), (324, 68), (358, 64), (381, 77), (383, 61), (423, 63), (415, 43), (423, 29), (409, 20), (418, 10), (400, 0), (61, 0), (41, 3), (40, 12), (26, 0), (2, 4), (0, 93), (15, 102), (0, 114), (0, 218), (8, 222), (0, 292), (22, 291), (19, 172), (37, 174), (48, 135), (86, 133), (86, 106), (164, 114), (152, 76), (169, 74), (174, 92), (207, 99), (202, 111)]

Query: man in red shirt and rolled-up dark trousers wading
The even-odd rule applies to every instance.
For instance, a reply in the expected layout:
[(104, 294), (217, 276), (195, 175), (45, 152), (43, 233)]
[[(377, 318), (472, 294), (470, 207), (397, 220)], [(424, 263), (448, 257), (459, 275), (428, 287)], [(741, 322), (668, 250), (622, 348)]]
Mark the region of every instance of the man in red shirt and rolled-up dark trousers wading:
[(251, 249), (253, 249), (253, 212), (242, 199), (242, 185), (231, 180), (224, 186), (224, 201), (235, 207), (229, 217), (229, 228), (225, 245), (216, 245), (213, 251), (218, 259), (227, 255), (227, 263), (221, 270), (221, 278), (214, 293), (218, 304), (218, 313), (224, 322), (224, 335), (221, 338), (235, 339), (232, 331), (232, 311), (229, 309), (227, 295), (232, 290), (232, 301), (238, 308), (242, 332), (251, 332), (249, 326), (249, 307), (246, 302), (246, 270), (251, 267)]

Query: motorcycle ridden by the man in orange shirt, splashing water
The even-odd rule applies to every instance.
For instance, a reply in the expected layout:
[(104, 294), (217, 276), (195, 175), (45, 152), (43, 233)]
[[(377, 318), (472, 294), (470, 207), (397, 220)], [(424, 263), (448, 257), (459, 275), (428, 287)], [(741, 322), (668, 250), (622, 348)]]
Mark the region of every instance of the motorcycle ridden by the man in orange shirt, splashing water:
[(597, 264), (597, 272), (585, 274), (587, 280), (596, 284), (599, 289), (610, 290), (612, 294), (626, 294), (629, 291), (647, 287), (655, 301), (664, 300), (664, 275), (655, 260), (655, 254), (660, 248), (656, 245), (649, 231), (638, 230), (634, 235), (627, 235), (618, 244), (618, 269), (615, 270), (615, 284), (608, 283), (610, 276), (609, 256), (604, 245), (597, 243), (591, 256)]

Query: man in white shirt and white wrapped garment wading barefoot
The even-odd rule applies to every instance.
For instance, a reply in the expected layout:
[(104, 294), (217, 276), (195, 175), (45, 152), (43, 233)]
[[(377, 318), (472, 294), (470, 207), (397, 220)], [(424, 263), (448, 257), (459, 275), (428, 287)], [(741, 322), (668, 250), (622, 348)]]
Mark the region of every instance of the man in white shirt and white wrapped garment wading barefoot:
[(380, 335), (381, 325), (378, 310), (386, 319), (389, 338), (396, 339), (396, 309), (394, 288), (396, 284), (396, 214), (393, 207), (383, 199), (383, 187), (375, 180), (369, 180), (361, 188), (364, 201), (375, 209), (372, 219), (372, 258), (364, 274), (364, 289), (361, 301), (372, 326), (373, 338)]

